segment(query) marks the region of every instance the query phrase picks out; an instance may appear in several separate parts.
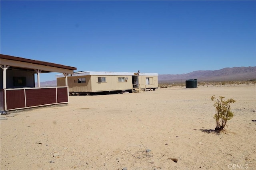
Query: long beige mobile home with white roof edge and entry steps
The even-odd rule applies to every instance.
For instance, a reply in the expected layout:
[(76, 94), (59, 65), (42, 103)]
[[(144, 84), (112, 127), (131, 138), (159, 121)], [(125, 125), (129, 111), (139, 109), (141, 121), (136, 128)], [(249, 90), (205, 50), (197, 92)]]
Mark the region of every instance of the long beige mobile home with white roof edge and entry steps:
[[(158, 88), (157, 73), (140, 72), (74, 72), (68, 77), (70, 95), (135, 92)], [(56, 75), (57, 86), (65, 85), (65, 76)]]

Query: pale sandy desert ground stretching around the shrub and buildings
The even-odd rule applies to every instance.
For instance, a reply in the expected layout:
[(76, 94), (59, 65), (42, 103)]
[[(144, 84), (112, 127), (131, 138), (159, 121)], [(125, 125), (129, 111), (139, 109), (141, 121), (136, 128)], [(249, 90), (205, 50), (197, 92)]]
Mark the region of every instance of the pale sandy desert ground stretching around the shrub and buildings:
[[(225, 133), (210, 132), (213, 95), (237, 100)], [(1, 170), (256, 169), (254, 84), (69, 100), (1, 115)]]

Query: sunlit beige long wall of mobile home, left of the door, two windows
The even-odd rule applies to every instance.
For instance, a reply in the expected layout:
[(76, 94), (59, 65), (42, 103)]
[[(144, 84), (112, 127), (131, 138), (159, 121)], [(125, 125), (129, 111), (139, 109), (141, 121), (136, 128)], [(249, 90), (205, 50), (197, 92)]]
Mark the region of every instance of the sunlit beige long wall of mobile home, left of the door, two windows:
[[(105, 77), (106, 82), (98, 82), (98, 77)], [(124, 78), (124, 82), (118, 82), (118, 78)], [(92, 75), (92, 92), (104, 92), (114, 90), (131, 90), (132, 76)]]

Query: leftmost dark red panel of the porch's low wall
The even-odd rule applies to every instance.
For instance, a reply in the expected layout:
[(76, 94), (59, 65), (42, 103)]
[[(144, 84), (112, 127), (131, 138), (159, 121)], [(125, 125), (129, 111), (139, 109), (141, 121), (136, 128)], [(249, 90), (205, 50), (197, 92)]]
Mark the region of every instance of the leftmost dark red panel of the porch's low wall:
[(7, 109), (23, 108), (25, 106), (24, 90), (7, 90), (6, 91)]

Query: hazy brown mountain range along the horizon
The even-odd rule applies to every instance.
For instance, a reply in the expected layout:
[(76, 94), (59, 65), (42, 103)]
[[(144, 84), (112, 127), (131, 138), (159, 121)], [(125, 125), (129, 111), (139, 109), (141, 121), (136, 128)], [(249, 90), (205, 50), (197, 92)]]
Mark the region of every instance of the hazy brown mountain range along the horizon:
[[(198, 81), (256, 80), (256, 66), (222, 68), (220, 70), (198, 70), (187, 74), (159, 74), (158, 83), (180, 82), (197, 79)], [(57, 86), (57, 81), (41, 82), (42, 87)], [(37, 86), (37, 83), (36, 83)]]

